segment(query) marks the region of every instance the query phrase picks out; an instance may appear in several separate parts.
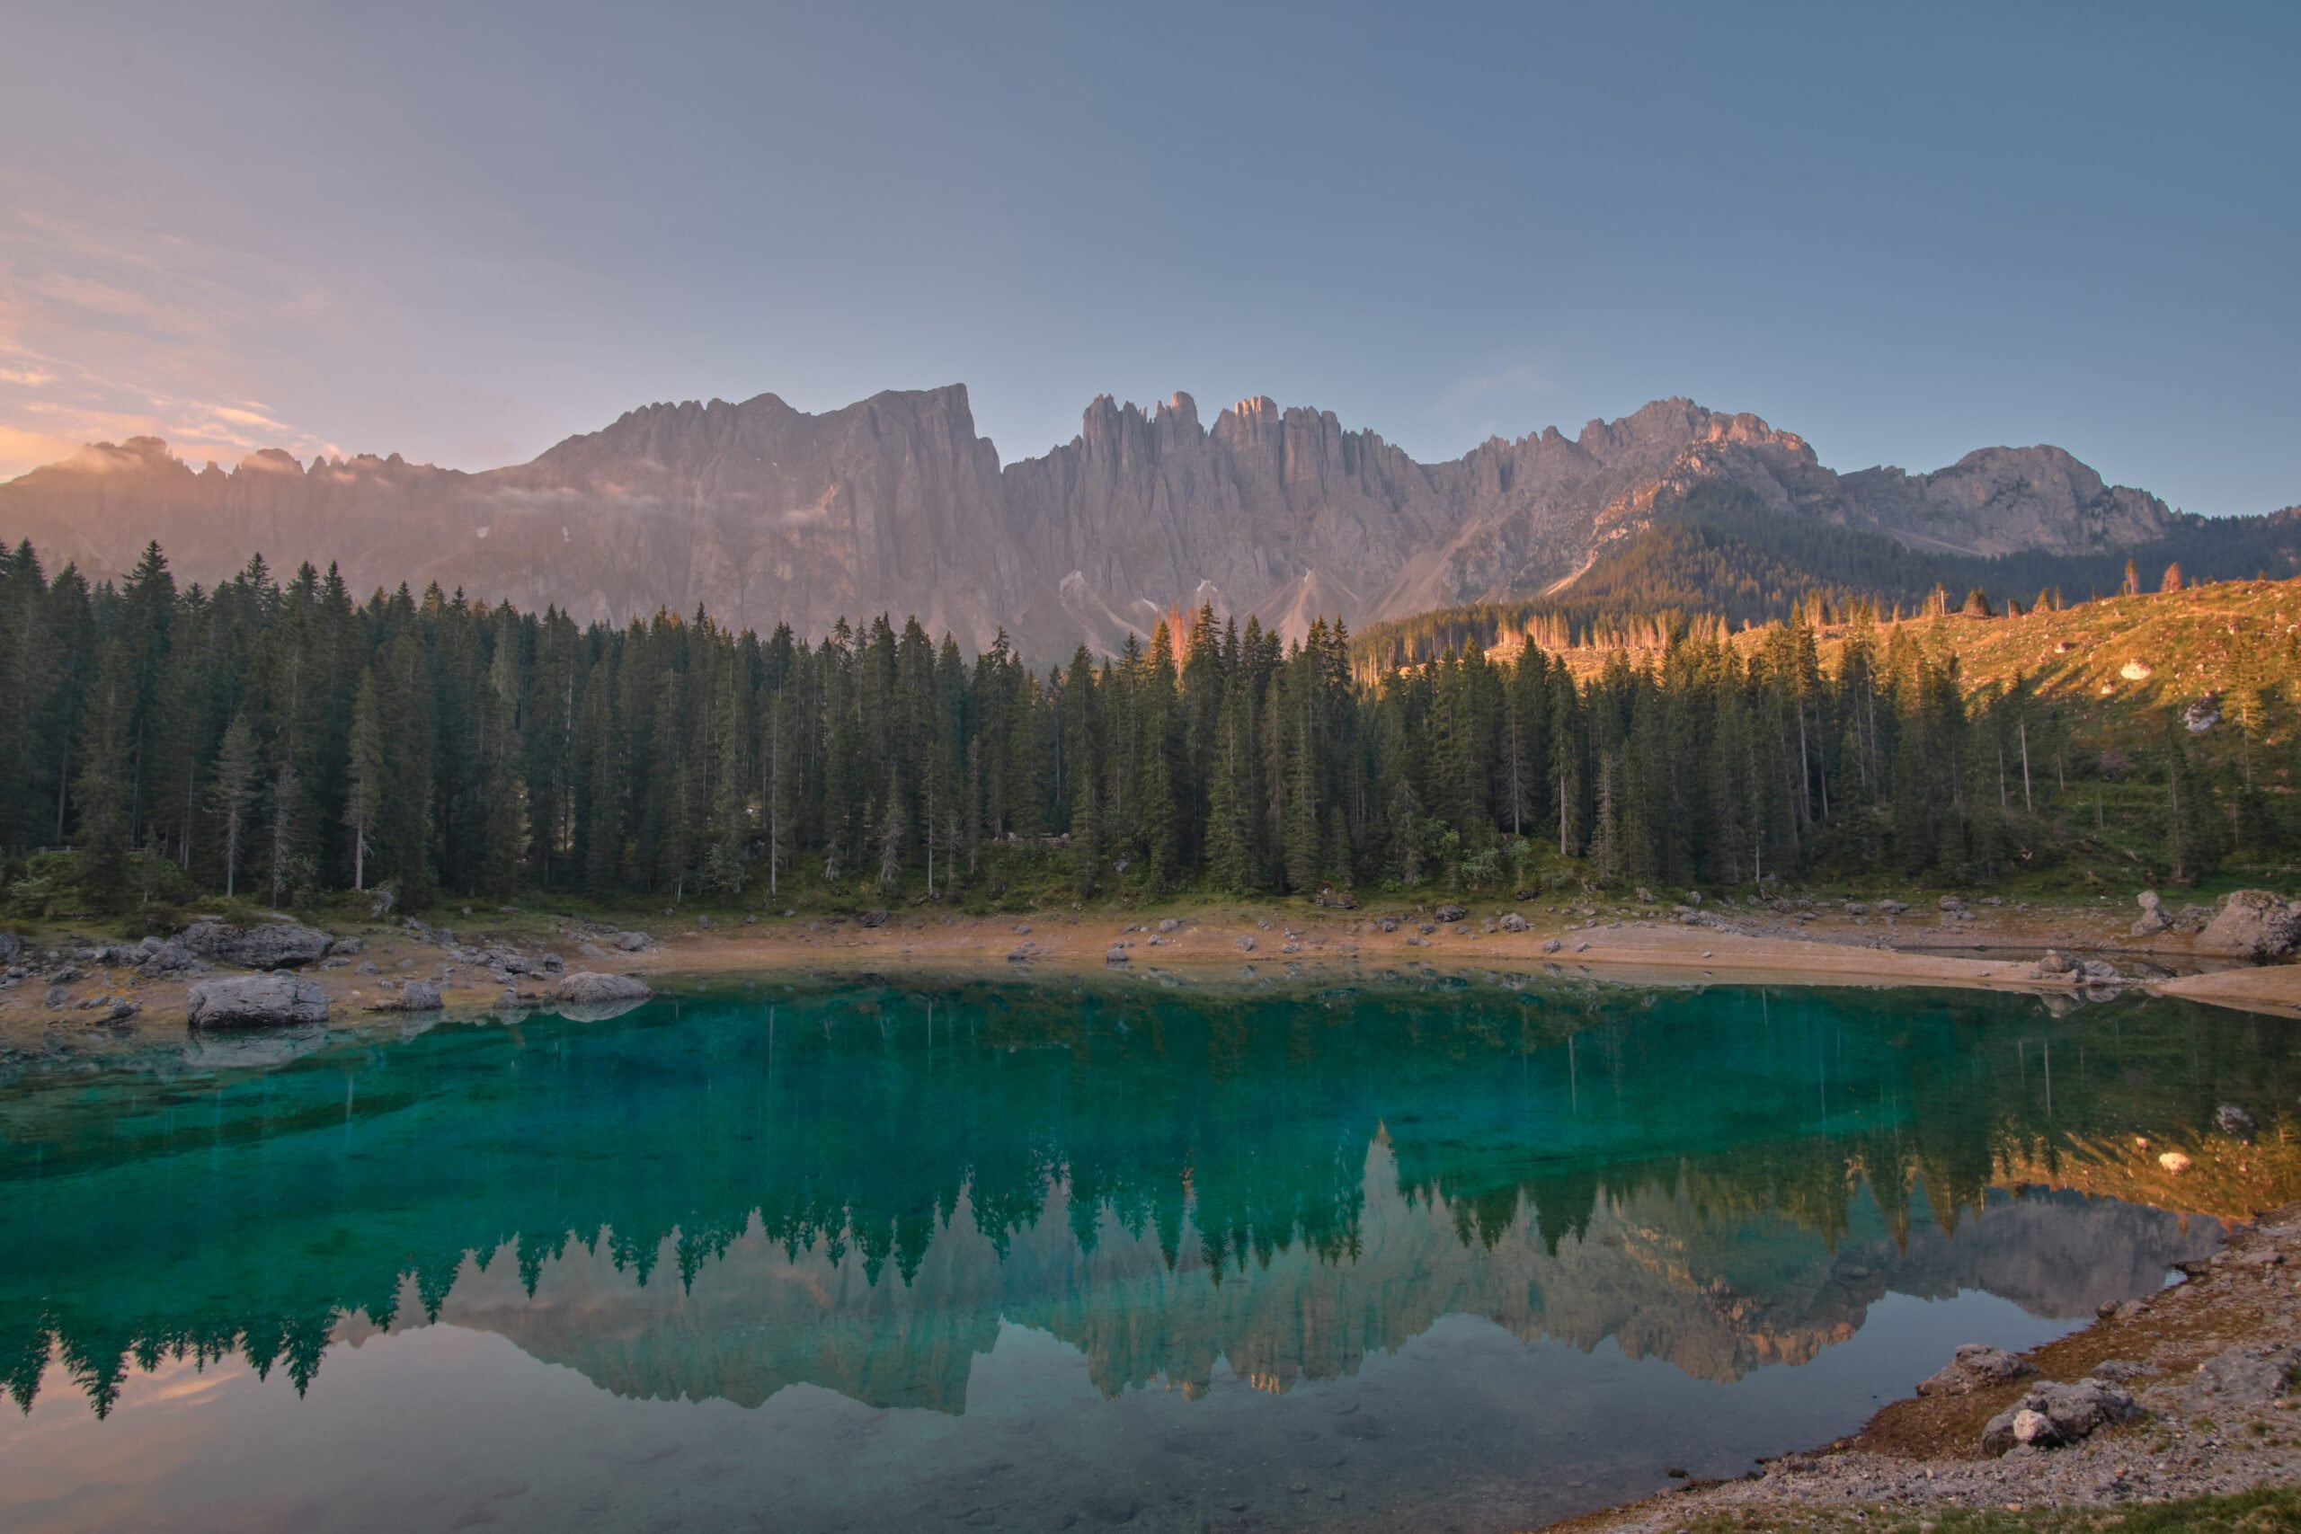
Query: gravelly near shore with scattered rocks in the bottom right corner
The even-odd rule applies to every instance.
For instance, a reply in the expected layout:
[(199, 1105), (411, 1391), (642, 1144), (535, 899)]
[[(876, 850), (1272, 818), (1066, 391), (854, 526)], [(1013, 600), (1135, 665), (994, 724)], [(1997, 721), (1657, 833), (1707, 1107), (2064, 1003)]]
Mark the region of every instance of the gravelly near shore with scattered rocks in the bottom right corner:
[[(2043, 1529), (2071, 1509), (2301, 1486), (2301, 1412), (2289, 1394), (2301, 1359), (2301, 1205), (2232, 1228), (2230, 1247), (2188, 1272), (2186, 1283), (2023, 1355), (2034, 1371), (2023, 1378), (1908, 1396), (1859, 1433), (1767, 1460), (1742, 1481), (1687, 1486), (1549, 1527), (1712, 1534), (1792, 1518), (1799, 1527), (1891, 1527), (1995, 1509), (2034, 1518), (2006, 1527)], [(2122, 1382), (2142, 1414), (2064, 1449), (1981, 1451), (1983, 1424), (2029, 1389), (2087, 1375)]]

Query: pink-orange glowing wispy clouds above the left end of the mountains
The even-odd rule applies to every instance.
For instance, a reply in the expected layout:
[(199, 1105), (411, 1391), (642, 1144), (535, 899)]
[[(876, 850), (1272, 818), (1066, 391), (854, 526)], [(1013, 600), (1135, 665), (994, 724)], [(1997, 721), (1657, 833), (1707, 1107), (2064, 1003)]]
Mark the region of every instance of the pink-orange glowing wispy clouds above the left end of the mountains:
[(255, 384), (331, 322), (297, 274), (0, 172), (0, 478), (124, 437), (166, 437), (189, 462), (336, 453)]

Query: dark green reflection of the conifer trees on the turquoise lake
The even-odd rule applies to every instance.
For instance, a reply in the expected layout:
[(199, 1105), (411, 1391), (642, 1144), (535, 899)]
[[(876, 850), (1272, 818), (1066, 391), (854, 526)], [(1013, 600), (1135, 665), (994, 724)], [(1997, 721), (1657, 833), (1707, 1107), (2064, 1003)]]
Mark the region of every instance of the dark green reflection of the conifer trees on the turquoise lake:
[(927, 1014), (886, 989), (713, 998), (113, 1081), (92, 1109), (18, 1092), (9, 1389), (30, 1403), (51, 1343), (99, 1410), (129, 1362), (179, 1352), (239, 1348), (301, 1389), (336, 1316), (389, 1322), (403, 1274), (437, 1313), (467, 1253), (511, 1242), (534, 1293), (568, 1233), (642, 1283), (663, 1251), (693, 1281), (757, 1217), (792, 1258), (821, 1242), (909, 1283), (962, 1196), (1003, 1251), (1056, 1180), (1086, 1251), (1109, 1214), (1169, 1263), (1187, 1224), (1217, 1281), (1289, 1247), (1348, 1263), (1376, 1132), (1463, 1242), (1530, 1207), (1555, 1253), (1601, 1198), (1654, 1189), (1834, 1242), (1864, 1180), (1896, 1226), (1921, 1187), (1947, 1230), (2000, 1161), (2197, 1134), (2225, 1095), (2289, 1102), (2301, 1074), (2283, 1033), (2165, 1003), (2048, 1021), (1942, 996), (971, 987), (934, 994), (932, 1042)]

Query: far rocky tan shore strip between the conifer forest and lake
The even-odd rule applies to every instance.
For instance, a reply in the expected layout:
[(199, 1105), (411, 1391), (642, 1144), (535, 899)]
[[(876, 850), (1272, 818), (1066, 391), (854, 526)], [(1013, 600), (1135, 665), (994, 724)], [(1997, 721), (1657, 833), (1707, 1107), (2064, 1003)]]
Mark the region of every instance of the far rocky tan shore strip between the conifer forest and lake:
[[(2064, 1010), (2133, 989), (2301, 1017), (2301, 913), (2230, 897), (2168, 918), (2142, 897), (1772, 897), (1717, 902), (1526, 899), (1466, 904), (1197, 904), (1139, 920), (1104, 911), (1024, 918), (934, 906), (865, 913), (665, 915), (640, 925), (483, 913), (336, 929), (288, 918), (202, 918), (136, 943), (74, 931), (0, 934), (0, 1067), (106, 1053), (122, 1037), (198, 1026), (341, 1026), (370, 1012), (504, 1014), (635, 1005), (674, 975), (1102, 973), (1148, 982), (1364, 984), (1549, 975), (1634, 984), (1965, 987)], [(2232, 936), (2234, 934), (2234, 936)], [(2227, 938), (2227, 941), (2223, 941)], [(2234, 945), (2232, 945), (2234, 943)], [(2191, 971), (2191, 973), (2177, 973)], [(239, 977), (242, 984), (221, 984)], [(255, 977), (272, 977), (255, 984)], [(285, 984), (295, 977), (297, 984)]]

